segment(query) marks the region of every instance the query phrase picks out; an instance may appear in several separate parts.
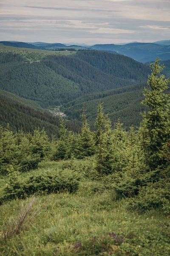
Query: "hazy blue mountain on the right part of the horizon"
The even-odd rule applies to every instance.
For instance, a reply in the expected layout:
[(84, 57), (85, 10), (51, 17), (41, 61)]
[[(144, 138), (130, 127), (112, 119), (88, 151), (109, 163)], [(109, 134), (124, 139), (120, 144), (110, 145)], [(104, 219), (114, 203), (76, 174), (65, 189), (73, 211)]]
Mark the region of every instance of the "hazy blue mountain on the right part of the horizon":
[(170, 46), (153, 43), (131, 43), (125, 45), (96, 44), (90, 49), (117, 52), (140, 62), (153, 61), (157, 56), (162, 60), (170, 59)]

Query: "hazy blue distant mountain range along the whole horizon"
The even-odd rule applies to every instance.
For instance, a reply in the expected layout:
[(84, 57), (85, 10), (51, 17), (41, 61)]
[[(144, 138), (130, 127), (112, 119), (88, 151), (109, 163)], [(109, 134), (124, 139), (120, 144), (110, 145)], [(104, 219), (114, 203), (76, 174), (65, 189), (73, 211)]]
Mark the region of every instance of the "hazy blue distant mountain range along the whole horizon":
[(66, 45), (60, 43), (44, 43), (44, 42), (33, 42), (24, 43), (16, 41), (0, 41), (0, 44), (11, 47), (22, 47), (22, 48), (33, 48), (33, 49), (68, 49), (68, 50), (79, 50), (79, 49), (91, 49), (98, 51), (112, 52), (116, 54), (121, 54), (133, 58), (136, 61), (145, 63), (148, 61), (154, 61), (157, 56), (161, 60), (170, 59), (170, 40), (157, 41), (154, 43), (139, 43), (131, 42), (128, 44), (96, 44), (94, 46), (87, 45)]

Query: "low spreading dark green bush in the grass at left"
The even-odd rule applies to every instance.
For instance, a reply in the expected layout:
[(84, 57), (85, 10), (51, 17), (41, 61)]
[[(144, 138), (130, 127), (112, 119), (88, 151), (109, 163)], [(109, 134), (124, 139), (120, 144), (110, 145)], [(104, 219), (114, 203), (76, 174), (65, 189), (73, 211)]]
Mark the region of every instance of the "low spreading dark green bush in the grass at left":
[(19, 177), (9, 183), (1, 192), (0, 204), (15, 198), (26, 198), (33, 194), (49, 194), (56, 192), (75, 192), (79, 186), (79, 175), (69, 171), (42, 172), (26, 178)]

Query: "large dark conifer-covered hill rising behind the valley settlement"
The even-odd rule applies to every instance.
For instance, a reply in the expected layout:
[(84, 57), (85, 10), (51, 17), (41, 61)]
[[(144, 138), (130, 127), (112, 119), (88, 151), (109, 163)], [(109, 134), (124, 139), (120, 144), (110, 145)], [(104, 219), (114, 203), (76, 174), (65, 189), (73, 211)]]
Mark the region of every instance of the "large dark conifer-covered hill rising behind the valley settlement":
[(149, 67), (107, 52), (48, 55), (32, 63), (18, 53), (0, 53), (0, 89), (37, 101), (44, 108), (146, 81), (148, 73)]

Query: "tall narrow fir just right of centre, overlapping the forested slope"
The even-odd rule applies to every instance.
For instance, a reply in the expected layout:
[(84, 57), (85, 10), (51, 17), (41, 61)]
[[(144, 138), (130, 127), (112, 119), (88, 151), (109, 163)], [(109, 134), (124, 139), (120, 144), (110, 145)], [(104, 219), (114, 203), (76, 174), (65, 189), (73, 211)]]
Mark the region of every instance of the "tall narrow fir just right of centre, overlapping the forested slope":
[(100, 175), (108, 175), (112, 171), (113, 147), (111, 140), (111, 121), (104, 115), (102, 104), (99, 103), (95, 126), (96, 131), (96, 171)]

